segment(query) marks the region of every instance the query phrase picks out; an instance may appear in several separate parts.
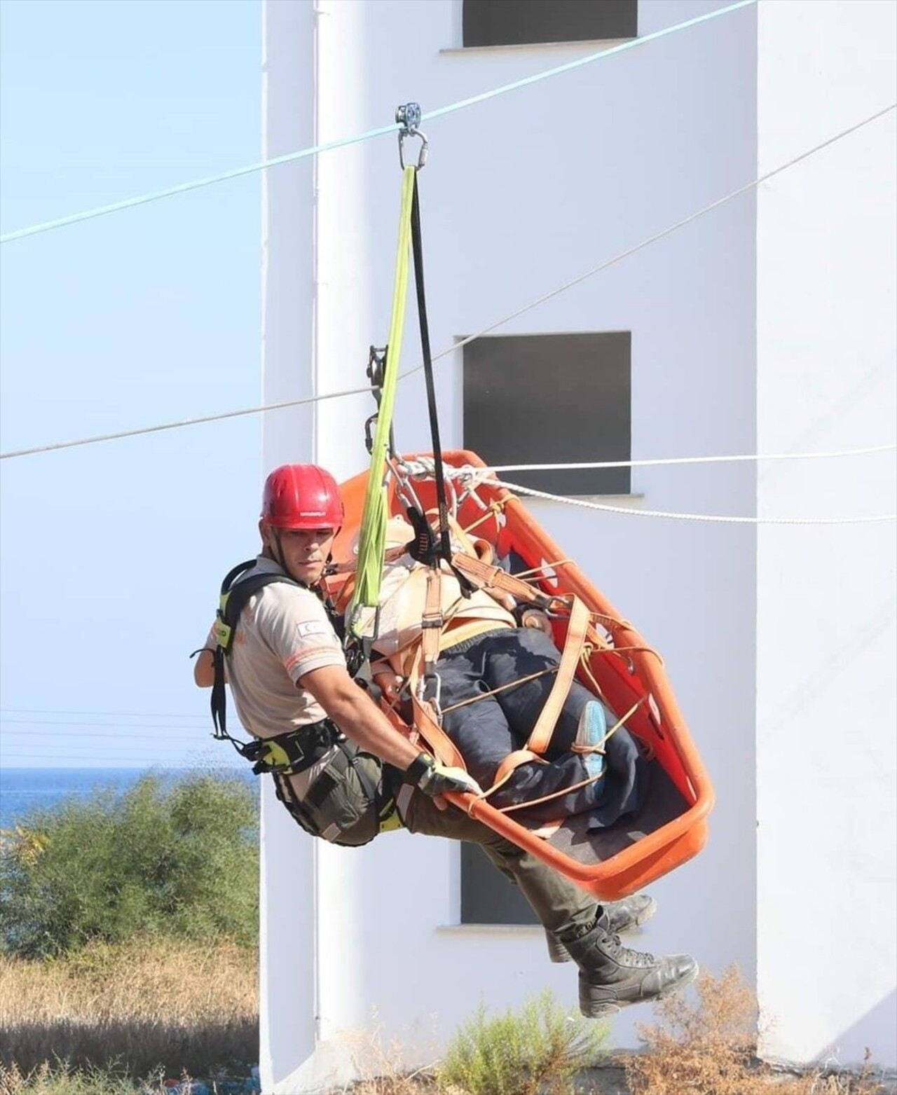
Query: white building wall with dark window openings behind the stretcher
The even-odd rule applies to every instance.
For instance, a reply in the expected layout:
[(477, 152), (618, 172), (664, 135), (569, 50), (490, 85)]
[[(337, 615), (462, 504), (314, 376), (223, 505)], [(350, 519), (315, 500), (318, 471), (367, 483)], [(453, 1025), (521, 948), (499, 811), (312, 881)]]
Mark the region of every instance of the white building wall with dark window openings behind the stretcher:
[[(643, 0), (648, 34), (722, 7)], [(266, 4), (272, 153), (434, 108), (594, 49), (461, 51), (458, 0)], [(755, 177), (756, 10), (446, 116), (421, 176), (435, 351)], [(387, 336), (399, 207), (393, 137), (266, 172), (265, 400), (365, 384)], [(631, 330), (635, 458), (749, 453), (755, 429), (752, 194), (584, 281), (503, 333)], [(410, 311), (403, 368), (416, 366)], [(460, 355), (437, 366), (444, 443), (462, 441)], [(405, 451), (428, 448), (419, 374), (400, 385)], [(366, 462), (368, 396), (266, 416), (265, 464)], [(750, 464), (639, 469), (633, 509), (750, 515)], [(640, 946), (689, 950), (754, 976), (756, 532), (536, 503), (560, 544), (664, 654), (718, 793), (706, 851), (663, 879)], [(274, 808), (273, 808), (274, 807)], [(379, 1029), (433, 1060), (483, 999), (544, 987), (575, 1005), (575, 970), (534, 929), (459, 926), (459, 850), (390, 834), (361, 851), (311, 848), (264, 803), (263, 1065), (284, 1081), (314, 1045)], [(285, 869), (284, 865), (288, 865)], [(613, 1041), (635, 1044), (634, 1021)], [(338, 1056), (338, 1054), (337, 1054)], [(323, 1068), (323, 1065), (322, 1065)], [(308, 1071), (307, 1073), (308, 1074)], [(335, 1074), (335, 1073), (334, 1073)], [(284, 1090), (299, 1090), (294, 1076)], [(266, 1087), (267, 1090), (267, 1087)]]

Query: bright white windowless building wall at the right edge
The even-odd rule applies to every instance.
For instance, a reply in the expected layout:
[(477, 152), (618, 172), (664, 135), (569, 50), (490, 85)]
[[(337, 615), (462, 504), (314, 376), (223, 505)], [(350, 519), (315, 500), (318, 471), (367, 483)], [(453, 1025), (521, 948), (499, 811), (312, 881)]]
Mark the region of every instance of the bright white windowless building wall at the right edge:
[[(812, 11), (812, 18), (808, 12)], [(759, 170), (894, 103), (892, 2), (761, 3)], [(894, 440), (892, 113), (766, 184), (760, 452)], [(895, 510), (894, 453), (761, 465), (766, 517)], [(897, 1061), (895, 527), (760, 528), (758, 988), (772, 1057)]]

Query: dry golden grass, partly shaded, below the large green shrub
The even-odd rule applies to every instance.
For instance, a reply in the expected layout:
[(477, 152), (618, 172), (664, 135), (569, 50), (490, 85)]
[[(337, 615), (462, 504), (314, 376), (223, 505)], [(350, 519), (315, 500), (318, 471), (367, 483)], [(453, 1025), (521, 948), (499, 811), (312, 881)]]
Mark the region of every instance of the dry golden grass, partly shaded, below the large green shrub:
[(0, 1062), (127, 1064), (207, 1073), (258, 1052), (257, 953), (228, 943), (93, 945), (69, 957), (0, 956)]

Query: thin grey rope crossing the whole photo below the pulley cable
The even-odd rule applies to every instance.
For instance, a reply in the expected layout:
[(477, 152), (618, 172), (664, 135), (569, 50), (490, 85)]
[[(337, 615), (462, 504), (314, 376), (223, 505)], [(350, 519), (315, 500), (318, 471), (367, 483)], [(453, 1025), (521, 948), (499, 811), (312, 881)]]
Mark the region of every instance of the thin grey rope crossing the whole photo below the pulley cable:
[[(754, 0), (751, 0), (751, 2), (754, 2)], [(886, 114), (889, 114), (894, 110), (897, 110), (897, 103), (892, 103), (890, 106), (886, 106), (884, 110), (877, 111), (875, 114), (870, 115), (862, 122), (858, 122), (854, 125), (850, 126), (849, 128), (842, 129), (840, 132), (836, 134), (833, 137), (829, 137), (820, 145), (815, 145), (813, 148), (807, 149), (800, 155), (796, 155), (794, 159), (789, 160), (786, 163), (783, 163), (780, 166), (774, 168), (772, 171), (768, 171), (764, 175), (761, 175), (759, 178), (755, 178), (749, 183), (745, 183), (744, 186), (739, 186), (737, 189), (731, 191), (723, 197), (717, 198), (715, 201), (711, 203), (708, 206), (704, 206), (697, 212), (693, 212), (688, 217), (683, 218), (682, 220), (677, 221), (675, 224), (665, 228), (663, 231), (656, 232), (654, 235), (648, 237), (641, 243), (635, 244), (635, 246), (630, 247), (628, 251), (623, 251), (620, 254), (614, 255), (611, 258), (608, 258), (606, 262), (600, 263), (598, 266), (594, 266), (591, 269), (586, 270), (584, 274), (579, 274), (577, 277), (573, 278), (573, 280), (566, 281), (564, 285), (555, 289), (552, 289), (550, 292), (543, 293), (536, 300), (531, 300), (528, 304), (525, 304), (522, 308), (517, 309), (509, 315), (505, 315), (503, 319), (496, 320), (494, 323), (490, 324), (487, 327), (484, 327), (482, 331), (478, 331), (476, 334), (468, 335), (465, 338), (462, 338), (459, 342), (453, 343), (451, 346), (441, 350), (439, 354), (434, 355), (433, 358), (434, 362), (439, 361), (442, 358), (448, 357), (450, 354), (453, 354), (456, 350), (459, 350), (462, 347), (470, 345), (470, 343), (475, 342), (475, 339), (482, 338), (484, 335), (487, 335), (491, 332), (497, 330), (498, 327), (504, 326), (504, 324), (509, 323), (511, 320), (518, 319), (525, 312), (528, 312), (531, 309), (537, 308), (539, 304), (543, 304), (547, 300), (551, 300), (553, 297), (560, 296), (560, 293), (565, 292), (567, 289), (572, 289), (574, 286), (579, 285), (582, 281), (585, 281), (590, 277), (594, 277), (596, 274), (600, 274), (602, 270), (606, 270), (609, 266), (613, 266), (616, 263), (622, 262), (622, 260), (628, 258), (630, 255), (634, 255), (636, 252), (642, 251), (649, 244), (656, 243), (658, 240), (663, 240), (665, 237), (670, 235), (672, 232), (678, 231), (678, 229), (683, 228), (686, 224), (690, 224), (692, 221), (698, 220), (698, 218), (703, 217), (705, 214), (711, 212), (713, 209), (720, 208), (720, 206), (724, 205), (727, 201), (731, 201), (733, 198), (736, 198), (739, 195), (746, 193), (747, 191), (752, 189), (756, 186), (759, 186), (761, 183), (768, 182), (770, 178), (773, 178), (775, 175), (781, 174), (783, 171), (787, 171), (795, 164), (801, 163), (802, 161), (808, 159), (812, 155), (815, 155), (817, 152), (823, 151), (823, 149), (828, 148), (830, 145), (833, 145), (836, 141), (841, 140), (843, 137), (848, 137), (851, 134), (856, 132), (859, 129), (862, 129), (864, 126), (871, 125), (873, 122), (877, 122), (878, 118), (884, 117)], [(424, 368), (423, 365), (418, 365), (414, 369), (409, 369), (405, 372), (399, 373), (398, 379), (404, 380), (406, 377), (411, 377), (416, 372), (421, 372), (423, 368)], [(221, 414), (202, 415), (196, 418), (182, 418), (177, 422), (162, 423), (157, 426), (141, 426), (138, 427), (137, 429), (125, 429), (114, 434), (97, 434), (92, 437), (78, 438), (77, 440), (73, 441), (56, 441), (50, 445), (33, 446), (32, 448), (27, 449), (14, 449), (8, 452), (0, 452), (0, 460), (14, 460), (19, 457), (36, 456), (39, 452), (56, 452), (60, 449), (74, 449), (85, 445), (97, 445), (101, 441), (117, 441), (127, 437), (140, 437), (146, 434), (158, 434), (169, 429), (182, 429), (186, 426), (198, 426), (211, 422), (223, 422), (227, 418), (238, 418), (245, 415), (264, 414), (268, 411), (283, 411), (289, 407), (304, 406), (309, 403), (320, 403), (323, 402), (324, 400), (343, 399), (348, 395), (369, 395), (369, 394), (370, 394), (370, 387), (367, 387), (367, 388), (352, 388), (343, 392), (327, 392), (323, 395), (310, 395), (299, 400), (283, 400), (278, 403), (266, 403), (263, 404), (262, 406), (244, 407), (243, 410), (240, 411), (226, 411)]]

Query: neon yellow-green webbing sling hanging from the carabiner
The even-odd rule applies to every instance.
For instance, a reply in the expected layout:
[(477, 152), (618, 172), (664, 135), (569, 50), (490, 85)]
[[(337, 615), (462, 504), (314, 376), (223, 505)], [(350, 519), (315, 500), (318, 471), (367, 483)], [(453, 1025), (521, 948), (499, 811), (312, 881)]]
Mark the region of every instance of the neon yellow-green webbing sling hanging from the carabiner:
[[(373, 612), (380, 596), (380, 580), (383, 573), (387, 530), (387, 456), (389, 452), (390, 426), (395, 402), (395, 384), (399, 377), (399, 359), (402, 351), (402, 330), (405, 322), (405, 298), (409, 284), (409, 260), (411, 256), (411, 206), (414, 196), (415, 168), (402, 172), (402, 206), (399, 217), (399, 246), (395, 253), (395, 279), (392, 290), (392, 315), (387, 344), (387, 360), (383, 366), (383, 387), (377, 414), (377, 430), (370, 454), (365, 508), (361, 512), (361, 529), (358, 539), (358, 568), (355, 593), (348, 612), (348, 629), (356, 638), (359, 618), (365, 609)], [(375, 616), (376, 620), (376, 616)], [(373, 637), (368, 635), (367, 637)]]

